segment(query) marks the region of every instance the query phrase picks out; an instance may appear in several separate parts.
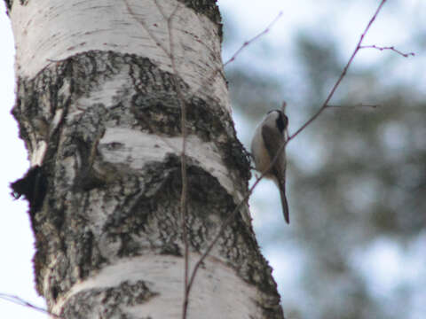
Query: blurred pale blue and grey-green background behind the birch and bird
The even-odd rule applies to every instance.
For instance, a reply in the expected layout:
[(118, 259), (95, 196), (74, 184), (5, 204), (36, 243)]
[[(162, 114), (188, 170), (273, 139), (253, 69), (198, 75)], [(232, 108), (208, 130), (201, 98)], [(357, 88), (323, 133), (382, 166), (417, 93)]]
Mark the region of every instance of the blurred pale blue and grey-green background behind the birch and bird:
[[(219, 0), (226, 67), (239, 138), (249, 148), (264, 113), (287, 101), (294, 133), (323, 103), (379, 0)], [(33, 237), (23, 201), (8, 184), (28, 168), (10, 115), (13, 41), (0, 1), (0, 293), (36, 297)], [(279, 193), (263, 181), (250, 200), (256, 237), (288, 319), (426, 318), (426, 3), (388, 1), (330, 102), (288, 144), (285, 224)], [(351, 107), (353, 105), (379, 105)], [(46, 318), (0, 300), (2, 317)]]

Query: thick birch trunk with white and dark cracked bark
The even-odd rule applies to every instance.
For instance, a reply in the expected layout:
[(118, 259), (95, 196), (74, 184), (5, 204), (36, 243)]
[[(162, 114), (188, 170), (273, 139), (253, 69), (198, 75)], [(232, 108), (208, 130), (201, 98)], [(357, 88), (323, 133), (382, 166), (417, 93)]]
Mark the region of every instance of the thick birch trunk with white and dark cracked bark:
[[(248, 189), (213, 0), (9, 0), (31, 168), (36, 290), (62, 318), (179, 318), (182, 107), (189, 261)], [(180, 93), (179, 93), (180, 92)], [(247, 205), (203, 262), (189, 318), (282, 318)]]

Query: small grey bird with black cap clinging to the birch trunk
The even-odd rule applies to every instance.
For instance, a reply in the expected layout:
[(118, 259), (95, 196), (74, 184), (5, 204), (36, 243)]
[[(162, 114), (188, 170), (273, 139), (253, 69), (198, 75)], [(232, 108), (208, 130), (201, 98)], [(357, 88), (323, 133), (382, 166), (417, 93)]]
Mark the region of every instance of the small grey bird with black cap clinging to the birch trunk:
[[(284, 103), (282, 110), (272, 110), (267, 113), (257, 126), (255, 136), (251, 140), (251, 154), (255, 160), (256, 170), (261, 173), (271, 166), (272, 159), (288, 139), (288, 117), (284, 114), (285, 106)], [(271, 178), (277, 184), (284, 219), (290, 223), (286, 198), (286, 164), (286, 150), (282, 148), (278, 159), (264, 176)]]

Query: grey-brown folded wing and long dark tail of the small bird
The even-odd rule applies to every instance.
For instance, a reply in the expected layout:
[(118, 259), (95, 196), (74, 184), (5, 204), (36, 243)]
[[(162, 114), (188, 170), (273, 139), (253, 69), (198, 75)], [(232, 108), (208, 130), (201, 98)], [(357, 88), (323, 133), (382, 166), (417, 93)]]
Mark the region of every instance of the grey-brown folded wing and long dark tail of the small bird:
[[(264, 126), (262, 128), (262, 137), (264, 138), (264, 146), (271, 157), (271, 160), (275, 158), (277, 153), (280, 151), (280, 147), (285, 143), (285, 139), (280, 132), (274, 128), (269, 128)], [(282, 213), (284, 214), (284, 219), (287, 223), (290, 223), (290, 218), (288, 214), (288, 202), (286, 197), (286, 156), (285, 148), (281, 150), (281, 156), (276, 160), (272, 166), (272, 174), (277, 177), (276, 182), (278, 183), (278, 188), (280, 189), (280, 198)]]

